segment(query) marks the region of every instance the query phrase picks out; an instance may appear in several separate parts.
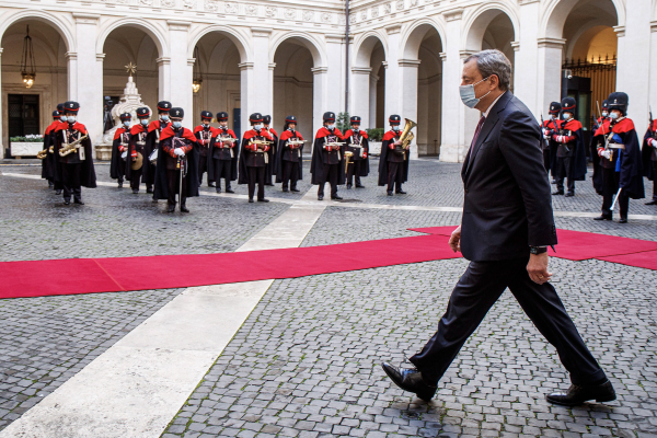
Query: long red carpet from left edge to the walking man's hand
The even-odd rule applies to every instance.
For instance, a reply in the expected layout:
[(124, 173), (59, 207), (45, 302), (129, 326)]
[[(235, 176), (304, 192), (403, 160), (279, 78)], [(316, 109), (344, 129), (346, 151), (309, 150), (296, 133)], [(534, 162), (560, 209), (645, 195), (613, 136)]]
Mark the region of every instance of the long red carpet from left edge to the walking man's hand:
[(295, 278), (460, 257), (451, 252), (447, 240), (419, 235), (243, 253), (4, 262), (0, 263), (0, 298)]

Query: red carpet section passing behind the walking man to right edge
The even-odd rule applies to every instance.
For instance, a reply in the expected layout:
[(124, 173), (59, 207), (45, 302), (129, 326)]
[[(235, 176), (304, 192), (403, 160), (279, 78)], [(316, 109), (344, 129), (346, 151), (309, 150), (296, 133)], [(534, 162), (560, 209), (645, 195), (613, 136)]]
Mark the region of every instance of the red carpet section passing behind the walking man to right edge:
[[(412, 228), (412, 231), (434, 235), (450, 235), (456, 227)], [(556, 253), (550, 249), (552, 257), (583, 261), (612, 255), (634, 254), (656, 251), (657, 242), (619, 238), (615, 235), (596, 234), (584, 231), (556, 230), (558, 245)]]

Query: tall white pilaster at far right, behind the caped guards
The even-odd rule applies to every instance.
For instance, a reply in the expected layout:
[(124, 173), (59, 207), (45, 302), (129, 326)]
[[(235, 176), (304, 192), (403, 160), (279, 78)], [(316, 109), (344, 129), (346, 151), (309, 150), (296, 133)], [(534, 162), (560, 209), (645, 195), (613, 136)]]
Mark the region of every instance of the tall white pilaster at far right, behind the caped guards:
[(625, 7), (625, 25), (614, 27), (619, 36), (616, 91), (630, 96), (627, 115), (634, 122), (639, 137), (648, 128), (650, 83), (650, 0), (632, 0)]

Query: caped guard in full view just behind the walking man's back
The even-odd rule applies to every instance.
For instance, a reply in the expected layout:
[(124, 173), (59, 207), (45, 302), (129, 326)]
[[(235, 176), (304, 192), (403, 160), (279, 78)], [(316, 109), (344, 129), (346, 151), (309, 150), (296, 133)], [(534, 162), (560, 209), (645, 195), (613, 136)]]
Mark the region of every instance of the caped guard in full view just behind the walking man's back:
[(556, 192), (553, 195), (564, 195), (564, 178), (567, 178), (568, 192), (565, 196), (575, 196), (575, 181), (586, 177), (586, 150), (581, 124), (575, 118), (575, 99), (562, 100), (558, 131), (552, 135), (556, 141)]

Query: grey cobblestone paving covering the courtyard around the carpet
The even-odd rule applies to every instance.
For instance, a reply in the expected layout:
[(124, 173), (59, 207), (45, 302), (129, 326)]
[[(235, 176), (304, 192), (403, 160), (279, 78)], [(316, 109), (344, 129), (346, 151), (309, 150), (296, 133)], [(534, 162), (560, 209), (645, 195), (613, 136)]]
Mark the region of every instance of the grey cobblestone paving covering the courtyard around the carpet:
[[(405, 196), (377, 187), (377, 161), (354, 204), (460, 207), (460, 165), (412, 163)], [(300, 199), (310, 188), (309, 163)], [(35, 166), (0, 172), (38, 174)], [(110, 182), (108, 166), (96, 166)], [(233, 184), (238, 194), (246, 187)], [(212, 188), (204, 187), (204, 191)], [(314, 191), (315, 188), (311, 188)], [(646, 184), (646, 193), (652, 183)], [(191, 215), (164, 201), (101, 186), (85, 206), (61, 205), (43, 181), (0, 176), (0, 261), (234, 251), (289, 204), (199, 197)], [(555, 210), (599, 210), (590, 181)], [(459, 212), (328, 208), (304, 246), (417, 235), (408, 228), (457, 226)], [(630, 212), (657, 215), (631, 201)], [(227, 227), (224, 223), (230, 223)], [(657, 240), (657, 221), (557, 217), (558, 228)], [(181, 232), (184, 230), (184, 232)], [(557, 246), (558, 251), (558, 246)], [(165, 437), (657, 437), (655, 272), (600, 261), (553, 258), (554, 284), (619, 401), (564, 408), (544, 394), (568, 385), (554, 349), (510, 293), (491, 310), (439, 384), (431, 404), (396, 389), (379, 367), (399, 364), (433, 334), (463, 260), (277, 280), (172, 419)], [(38, 273), (34, 273), (37, 275)], [(0, 429), (155, 312), (180, 289), (0, 300)]]

